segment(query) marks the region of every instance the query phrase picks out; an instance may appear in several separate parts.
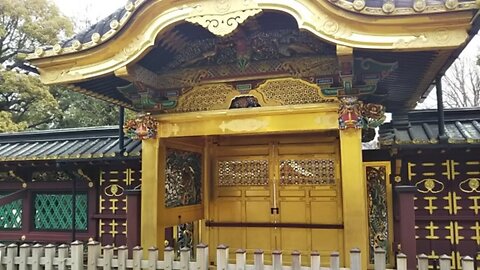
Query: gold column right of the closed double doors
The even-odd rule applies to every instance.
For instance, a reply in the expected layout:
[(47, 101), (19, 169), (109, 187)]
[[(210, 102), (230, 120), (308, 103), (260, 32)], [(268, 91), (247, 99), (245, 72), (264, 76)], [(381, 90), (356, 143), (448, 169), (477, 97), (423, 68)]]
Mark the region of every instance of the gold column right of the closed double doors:
[[(361, 129), (340, 130), (342, 199), (345, 264), (350, 262), (350, 250), (362, 251), (362, 267), (367, 269), (368, 217), (367, 191), (362, 165)], [(346, 265), (348, 267), (348, 265)]]

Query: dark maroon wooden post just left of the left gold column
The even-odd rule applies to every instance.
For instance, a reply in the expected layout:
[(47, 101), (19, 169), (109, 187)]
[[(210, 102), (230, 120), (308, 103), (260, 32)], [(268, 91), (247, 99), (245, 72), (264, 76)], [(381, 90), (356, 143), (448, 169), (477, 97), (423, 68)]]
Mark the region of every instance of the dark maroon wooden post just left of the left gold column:
[(140, 245), (141, 191), (125, 190), (127, 196), (127, 247), (129, 250)]

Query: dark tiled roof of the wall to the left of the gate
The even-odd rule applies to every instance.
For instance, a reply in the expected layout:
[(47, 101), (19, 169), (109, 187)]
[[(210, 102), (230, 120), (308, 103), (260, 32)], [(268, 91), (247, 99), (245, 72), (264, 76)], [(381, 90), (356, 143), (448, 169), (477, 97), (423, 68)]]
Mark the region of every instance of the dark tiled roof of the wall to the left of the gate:
[[(140, 157), (142, 144), (125, 138), (123, 157)], [(119, 152), (118, 126), (0, 134), (0, 162), (113, 158)]]

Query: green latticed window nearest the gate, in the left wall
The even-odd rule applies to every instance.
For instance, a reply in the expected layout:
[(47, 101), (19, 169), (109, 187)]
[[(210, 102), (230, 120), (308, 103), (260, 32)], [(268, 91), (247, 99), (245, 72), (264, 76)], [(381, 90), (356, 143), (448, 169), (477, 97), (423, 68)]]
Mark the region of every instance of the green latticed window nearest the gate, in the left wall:
[[(36, 230), (72, 229), (72, 194), (36, 194), (35, 217)], [(87, 194), (77, 194), (75, 209), (75, 228), (87, 230), (88, 225)]]

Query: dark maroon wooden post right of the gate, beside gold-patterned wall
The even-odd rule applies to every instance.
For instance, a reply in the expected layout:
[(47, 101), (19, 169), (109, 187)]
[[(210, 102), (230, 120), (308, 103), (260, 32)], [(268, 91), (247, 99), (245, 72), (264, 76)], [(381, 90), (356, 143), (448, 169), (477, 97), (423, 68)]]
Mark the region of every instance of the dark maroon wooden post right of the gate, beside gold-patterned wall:
[(414, 197), (416, 192), (414, 186), (395, 186), (396, 205), (398, 213), (398, 229), (396, 240), (400, 244), (400, 251), (407, 255), (407, 269), (416, 269), (416, 262), (413, 259), (417, 255), (417, 245), (415, 240), (415, 204)]

